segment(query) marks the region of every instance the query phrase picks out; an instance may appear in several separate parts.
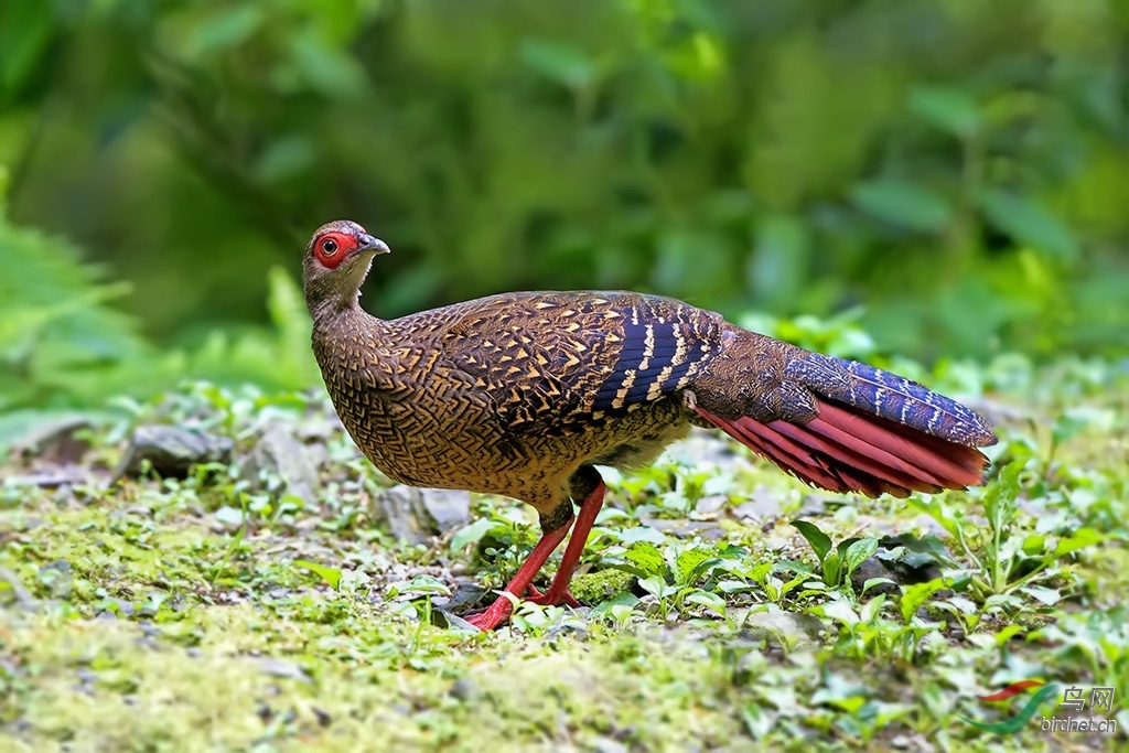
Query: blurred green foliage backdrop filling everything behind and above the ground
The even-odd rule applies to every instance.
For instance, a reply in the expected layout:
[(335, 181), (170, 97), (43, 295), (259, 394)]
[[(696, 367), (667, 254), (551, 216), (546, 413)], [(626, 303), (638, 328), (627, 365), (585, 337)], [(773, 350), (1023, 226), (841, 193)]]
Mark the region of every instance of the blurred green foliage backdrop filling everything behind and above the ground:
[(6, 0), (0, 410), (317, 383), (380, 316), (633, 288), (931, 361), (1129, 352), (1123, 0)]

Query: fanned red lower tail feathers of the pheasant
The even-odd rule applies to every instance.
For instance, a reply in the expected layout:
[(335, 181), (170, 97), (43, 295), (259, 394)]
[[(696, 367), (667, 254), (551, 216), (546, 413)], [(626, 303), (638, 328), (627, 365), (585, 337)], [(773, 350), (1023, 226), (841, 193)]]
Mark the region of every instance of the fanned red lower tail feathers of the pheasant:
[(863, 411), (821, 402), (805, 424), (698, 413), (758, 455), (814, 487), (877, 497), (963, 489), (988, 465), (974, 447), (938, 439)]

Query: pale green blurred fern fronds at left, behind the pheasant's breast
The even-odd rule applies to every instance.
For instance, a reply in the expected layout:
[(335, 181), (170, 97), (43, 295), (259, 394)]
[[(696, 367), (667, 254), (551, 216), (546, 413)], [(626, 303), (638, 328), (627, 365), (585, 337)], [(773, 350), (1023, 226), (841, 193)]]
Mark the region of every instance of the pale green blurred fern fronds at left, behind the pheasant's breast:
[[(0, 211), (0, 412), (95, 406), (111, 395), (150, 395), (184, 379), (253, 383), (268, 389), (316, 384), (309, 315), (281, 268), (268, 274), (272, 330), (216, 330), (187, 351), (160, 352), (134, 317), (111, 305), (131, 295), (107, 283), (64, 238), (14, 226)], [(7, 443), (0, 431), (0, 446)]]

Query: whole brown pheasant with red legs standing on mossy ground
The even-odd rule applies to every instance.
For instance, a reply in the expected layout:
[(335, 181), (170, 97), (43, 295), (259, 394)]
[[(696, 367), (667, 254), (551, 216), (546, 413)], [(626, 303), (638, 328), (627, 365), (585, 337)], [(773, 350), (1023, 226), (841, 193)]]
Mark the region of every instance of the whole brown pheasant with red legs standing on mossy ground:
[[(720, 429), (834, 492), (905, 497), (983, 482), (977, 448), (995, 444), (991, 424), (916, 382), (634, 292), (510, 292), (384, 321), (359, 298), (386, 253), (348, 220), (322, 226), (306, 247), (325, 385), (353, 441), (391, 479), (536, 509), (542, 536), (506, 587), (515, 597), (577, 606), (569, 580), (604, 501), (596, 466), (645, 466), (691, 426)], [(570, 527), (541, 592), (533, 578)], [(467, 620), (492, 630), (511, 610), (502, 594)]]

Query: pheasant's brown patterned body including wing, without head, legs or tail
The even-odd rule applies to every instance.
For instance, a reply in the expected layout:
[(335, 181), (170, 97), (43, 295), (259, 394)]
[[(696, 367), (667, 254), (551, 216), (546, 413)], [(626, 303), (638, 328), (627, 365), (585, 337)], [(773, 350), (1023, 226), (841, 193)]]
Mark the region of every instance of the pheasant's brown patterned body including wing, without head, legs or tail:
[[(648, 326), (671, 344), (641, 362)], [(723, 326), (665, 298), (509, 294), (390, 322), (358, 308), (318, 326), (314, 352), (342, 422), (385, 474), (549, 515), (580, 465), (639, 467), (686, 434), (695, 415), (682, 393)]]

